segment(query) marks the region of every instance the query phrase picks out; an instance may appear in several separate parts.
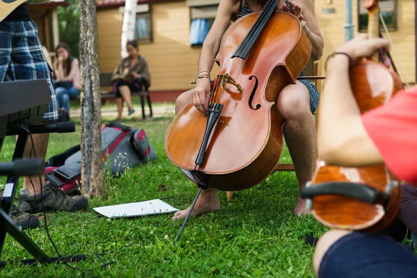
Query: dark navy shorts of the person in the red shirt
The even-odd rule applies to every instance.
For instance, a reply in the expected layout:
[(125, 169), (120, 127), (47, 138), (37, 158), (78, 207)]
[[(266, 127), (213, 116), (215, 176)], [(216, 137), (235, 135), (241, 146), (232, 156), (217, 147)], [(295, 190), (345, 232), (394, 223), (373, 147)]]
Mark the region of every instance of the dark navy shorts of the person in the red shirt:
[(327, 250), (318, 277), (417, 277), (417, 256), (387, 236), (356, 232)]

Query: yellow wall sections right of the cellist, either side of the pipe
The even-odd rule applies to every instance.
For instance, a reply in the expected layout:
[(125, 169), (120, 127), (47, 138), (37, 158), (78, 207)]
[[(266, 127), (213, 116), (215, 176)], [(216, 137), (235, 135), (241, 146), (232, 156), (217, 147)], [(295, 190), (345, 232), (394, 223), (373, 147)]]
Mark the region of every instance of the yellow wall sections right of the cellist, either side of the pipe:
[[(357, 1), (352, 0), (354, 36), (359, 35), (357, 27)], [(325, 38), (325, 54), (323, 56), (323, 60), (325, 60), (327, 56), (332, 54), (336, 47), (345, 41), (345, 31), (343, 28), (345, 24), (345, 1), (333, 0), (329, 5), (326, 5), (325, 1), (315, 1), (315, 5), (318, 24)], [(407, 76), (407, 80), (411, 83), (416, 82), (416, 33), (414, 26), (416, 15), (414, 5), (414, 0), (398, 0), (398, 29), (396, 31), (390, 31), (405, 76)], [(322, 13), (322, 10), (327, 8), (334, 8), (335, 13)], [(382, 33), (384, 38), (387, 38), (385, 32), (383, 31)], [(391, 51), (391, 56), (397, 69), (400, 70), (398, 67), (400, 64), (394, 56), (394, 51)]]

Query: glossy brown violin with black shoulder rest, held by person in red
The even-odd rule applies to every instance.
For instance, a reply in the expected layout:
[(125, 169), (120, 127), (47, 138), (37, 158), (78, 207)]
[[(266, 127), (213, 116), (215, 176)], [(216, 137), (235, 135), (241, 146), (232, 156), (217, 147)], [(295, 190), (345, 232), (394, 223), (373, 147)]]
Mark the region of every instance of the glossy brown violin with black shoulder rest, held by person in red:
[[(368, 37), (378, 38), (378, 1), (366, 0), (363, 6), (368, 8)], [(350, 67), (350, 85), (361, 113), (385, 104), (402, 89), (398, 74), (378, 62), (375, 54)], [(336, 167), (318, 160), (302, 197), (308, 198), (314, 217), (328, 227), (379, 231), (398, 215), (401, 188), (386, 165)]]

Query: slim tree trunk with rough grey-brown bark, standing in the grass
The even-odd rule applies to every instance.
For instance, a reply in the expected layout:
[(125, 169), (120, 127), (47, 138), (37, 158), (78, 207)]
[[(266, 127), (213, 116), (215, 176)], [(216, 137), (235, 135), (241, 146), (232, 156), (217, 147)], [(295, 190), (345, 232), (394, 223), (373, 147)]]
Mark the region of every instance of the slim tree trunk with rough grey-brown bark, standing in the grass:
[(81, 185), (87, 197), (104, 197), (95, 0), (80, 0)]

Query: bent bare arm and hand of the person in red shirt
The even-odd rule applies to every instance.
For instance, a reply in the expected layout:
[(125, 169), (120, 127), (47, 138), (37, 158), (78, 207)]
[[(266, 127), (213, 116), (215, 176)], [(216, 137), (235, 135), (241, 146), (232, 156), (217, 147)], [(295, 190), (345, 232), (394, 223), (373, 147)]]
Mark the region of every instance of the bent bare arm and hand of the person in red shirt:
[[(336, 52), (344, 52), (356, 63), (360, 57), (369, 57), (378, 49), (389, 47), (387, 40), (366, 38), (361, 35)], [(318, 154), (329, 164), (345, 167), (384, 163), (361, 122), (361, 113), (350, 87), (349, 63), (349, 58), (343, 54), (336, 54), (327, 61), (326, 83), (317, 119)]]

